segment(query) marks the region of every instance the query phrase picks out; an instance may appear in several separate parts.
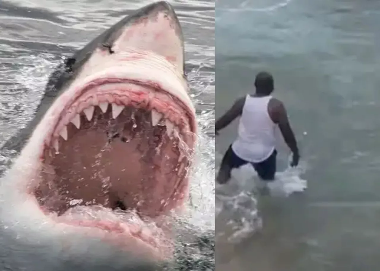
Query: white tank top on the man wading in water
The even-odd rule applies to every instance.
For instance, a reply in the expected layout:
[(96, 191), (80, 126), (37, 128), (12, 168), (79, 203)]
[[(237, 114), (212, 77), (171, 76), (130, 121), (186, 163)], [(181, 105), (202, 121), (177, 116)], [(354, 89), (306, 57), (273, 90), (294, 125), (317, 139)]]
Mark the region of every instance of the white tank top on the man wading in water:
[(266, 160), (275, 148), (275, 124), (268, 113), (272, 96), (247, 95), (239, 120), (238, 137), (232, 143), (237, 156), (248, 162)]

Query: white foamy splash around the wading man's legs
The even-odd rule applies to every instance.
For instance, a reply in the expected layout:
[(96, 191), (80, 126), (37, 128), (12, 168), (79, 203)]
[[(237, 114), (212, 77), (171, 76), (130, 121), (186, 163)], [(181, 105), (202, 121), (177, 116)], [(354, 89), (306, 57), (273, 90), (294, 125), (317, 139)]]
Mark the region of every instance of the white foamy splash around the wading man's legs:
[(300, 163), (296, 168), (288, 167), (276, 172), (273, 182), (261, 181), (252, 165), (243, 165), (231, 171), (231, 180), (218, 185), (215, 193), (216, 216), (226, 216), (230, 231), (222, 231), (228, 242), (237, 243), (263, 227), (258, 210), (258, 193), (267, 190), (271, 197), (288, 197), (294, 192), (303, 192), (307, 181), (299, 177), (306, 170)]

